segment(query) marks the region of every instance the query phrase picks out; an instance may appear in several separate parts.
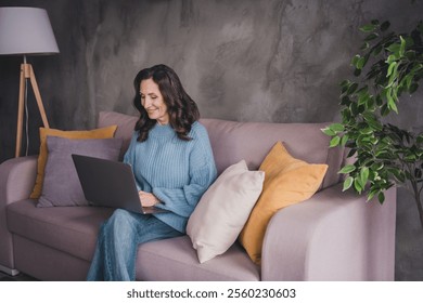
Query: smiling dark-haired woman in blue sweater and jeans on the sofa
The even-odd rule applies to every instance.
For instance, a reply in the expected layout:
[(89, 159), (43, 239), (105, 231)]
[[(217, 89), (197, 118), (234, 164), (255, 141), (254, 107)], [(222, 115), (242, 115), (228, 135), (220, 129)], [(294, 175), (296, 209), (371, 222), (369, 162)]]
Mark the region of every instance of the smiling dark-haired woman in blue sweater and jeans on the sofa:
[(134, 280), (138, 245), (184, 235), (216, 179), (207, 131), (176, 73), (166, 65), (142, 69), (134, 89), (140, 119), (124, 161), (132, 166), (141, 203), (167, 212), (115, 210), (100, 229), (88, 280)]

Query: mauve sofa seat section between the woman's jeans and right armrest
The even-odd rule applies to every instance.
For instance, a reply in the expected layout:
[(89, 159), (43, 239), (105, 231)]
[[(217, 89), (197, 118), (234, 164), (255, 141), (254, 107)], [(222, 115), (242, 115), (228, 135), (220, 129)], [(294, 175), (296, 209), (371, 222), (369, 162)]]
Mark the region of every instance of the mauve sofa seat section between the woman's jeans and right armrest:
[(259, 267), (239, 243), (201, 264), (188, 236), (141, 245), (137, 269), (137, 279), (149, 281), (260, 280)]

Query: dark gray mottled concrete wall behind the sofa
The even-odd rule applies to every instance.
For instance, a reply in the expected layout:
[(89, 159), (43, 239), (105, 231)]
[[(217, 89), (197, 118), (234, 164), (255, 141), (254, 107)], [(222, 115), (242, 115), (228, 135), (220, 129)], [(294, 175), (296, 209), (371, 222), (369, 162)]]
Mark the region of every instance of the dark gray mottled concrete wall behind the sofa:
[[(51, 127), (87, 129), (99, 110), (134, 114), (132, 79), (175, 68), (203, 117), (318, 122), (338, 118), (338, 83), (351, 77), (358, 27), (373, 18), (408, 30), (423, 15), (411, 0), (0, 0), (44, 8), (61, 53), (29, 57)], [(18, 68), (0, 57), (0, 161), (13, 157)], [(422, 95), (421, 93), (419, 93)], [(421, 97), (414, 97), (420, 101)], [(29, 100), (29, 154), (41, 124)], [(394, 120), (422, 128), (420, 102)]]

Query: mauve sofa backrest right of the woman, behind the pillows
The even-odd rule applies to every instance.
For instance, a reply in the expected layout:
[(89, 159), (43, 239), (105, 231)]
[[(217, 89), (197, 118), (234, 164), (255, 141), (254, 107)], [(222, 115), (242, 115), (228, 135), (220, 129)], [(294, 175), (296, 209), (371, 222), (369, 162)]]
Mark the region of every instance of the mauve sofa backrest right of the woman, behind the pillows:
[(343, 148), (329, 148), (330, 137), (322, 133), (328, 123), (233, 122), (202, 119), (207, 128), (218, 172), (245, 159), (251, 170), (258, 170), (277, 142), (290, 154), (309, 163), (328, 163), (322, 188), (338, 182)]

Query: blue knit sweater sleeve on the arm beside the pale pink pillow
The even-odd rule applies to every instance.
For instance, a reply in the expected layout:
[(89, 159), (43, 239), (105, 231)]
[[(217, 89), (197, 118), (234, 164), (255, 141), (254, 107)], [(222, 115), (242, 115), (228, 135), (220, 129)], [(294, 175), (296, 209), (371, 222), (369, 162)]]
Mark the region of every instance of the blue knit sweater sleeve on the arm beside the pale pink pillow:
[(215, 181), (217, 171), (207, 132), (200, 133), (190, 154), (190, 183), (182, 188), (153, 188), (153, 194), (162, 201), (158, 208), (189, 218), (200, 198)]

